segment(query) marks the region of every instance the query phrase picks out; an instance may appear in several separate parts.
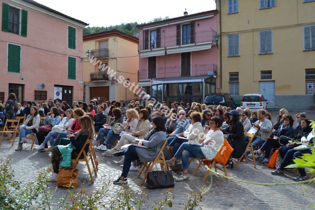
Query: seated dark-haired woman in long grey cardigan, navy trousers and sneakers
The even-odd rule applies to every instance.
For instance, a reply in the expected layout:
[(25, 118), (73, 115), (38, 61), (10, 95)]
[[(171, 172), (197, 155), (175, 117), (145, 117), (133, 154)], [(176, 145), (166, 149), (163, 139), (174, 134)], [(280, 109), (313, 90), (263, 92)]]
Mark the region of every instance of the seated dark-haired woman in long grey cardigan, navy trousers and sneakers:
[[(147, 114), (149, 116), (149, 113)], [(124, 156), (123, 171), (118, 179), (113, 181), (114, 184), (121, 184), (123, 182), (127, 183), (127, 176), (132, 161), (140, 160), (143, 162), (149, 162), (156, 158), (166, 140), (166, 129), (163, 117), (156, 116), (152, 118), (152, 127), (152, 131), (147, 133), (147, 135), (138, 143), (138, 145), (147, 146), (148, 148), (129, 146), (126, 150), (114, 153), (115, 157)]]

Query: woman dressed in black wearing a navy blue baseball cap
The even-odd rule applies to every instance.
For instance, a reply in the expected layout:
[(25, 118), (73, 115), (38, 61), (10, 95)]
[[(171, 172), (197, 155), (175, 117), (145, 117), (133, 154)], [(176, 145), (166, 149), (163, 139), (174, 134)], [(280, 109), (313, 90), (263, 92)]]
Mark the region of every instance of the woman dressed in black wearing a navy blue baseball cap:
[[(232, 158), (240, 158), (246, 149), (246, 138), (244, 136), (243, 123), (239, 121), (239, 112), (232, 110), (228, 112), (230, 114), (230, 133), (226, 134), (226, 139), (229, 144), (233, 147)], [(230, 158), (226, 164), (226, 167), (233, 168), (233, 162)]]

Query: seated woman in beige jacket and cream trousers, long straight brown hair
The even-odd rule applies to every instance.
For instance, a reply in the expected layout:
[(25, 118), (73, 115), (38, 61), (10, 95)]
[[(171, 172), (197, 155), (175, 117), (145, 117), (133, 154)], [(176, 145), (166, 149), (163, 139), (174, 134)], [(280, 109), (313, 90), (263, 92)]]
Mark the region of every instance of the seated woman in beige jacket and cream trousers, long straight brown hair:
[(141, 109), (139, 118), (140, 120), (138, 121), (137, 127), (134, 130), (133, 128), (130, 128), (132, 133), (123, 134), (115, 148), (107, 150), (105, 153), (102, 154), (102, 156), (111, 157), (115, 152), (119, 151), (123, 145), (131, 144), (131, 142), (134, 141), (136, 138), (143, 139), (143, 137), (146, 136), (146, 134), (150, 130), (150, 122), (148, 120), (149, 112), (146, 109)]

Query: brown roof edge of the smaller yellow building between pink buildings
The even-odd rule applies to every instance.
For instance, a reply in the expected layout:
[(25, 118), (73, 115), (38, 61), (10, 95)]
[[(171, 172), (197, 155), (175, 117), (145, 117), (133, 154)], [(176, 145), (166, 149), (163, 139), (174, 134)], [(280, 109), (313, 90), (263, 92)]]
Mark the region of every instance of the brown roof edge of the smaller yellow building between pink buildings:
[(113, 37), (113, 36), (119, 36), (121, 38), (132, 41), (134, 43), (138, 43), (139, 41), (139, 38), (137, 37), (118, 31), (117, 29), (111, 29), (109, 31), (101, 31), (101, 32), (93, 33), (93, 34), (86, 34), (83, 36), (83, 42), (105, 38), (105, 37)]

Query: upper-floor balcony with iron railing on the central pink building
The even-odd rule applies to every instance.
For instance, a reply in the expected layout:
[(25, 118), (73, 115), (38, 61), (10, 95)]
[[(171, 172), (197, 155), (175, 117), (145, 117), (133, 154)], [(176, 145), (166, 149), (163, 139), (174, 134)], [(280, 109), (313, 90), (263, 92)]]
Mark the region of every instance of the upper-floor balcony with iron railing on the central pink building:
[(167, 48), (172, 46), (180, 46), (186, 44), (196, 44), (203, 42), (214, 42), (215, 43), (215, 35), (216, 31), (200, 31), (195, 32), (193, 36), (190, 33), (181, 34), (181, 36), (169, 36), (163, 37), (161, 36), (159, 39), (147, 39), (139, 41), (139, 51), (140, 50), (148, 50), (148, 49), (158, 49), (158, 48)]

